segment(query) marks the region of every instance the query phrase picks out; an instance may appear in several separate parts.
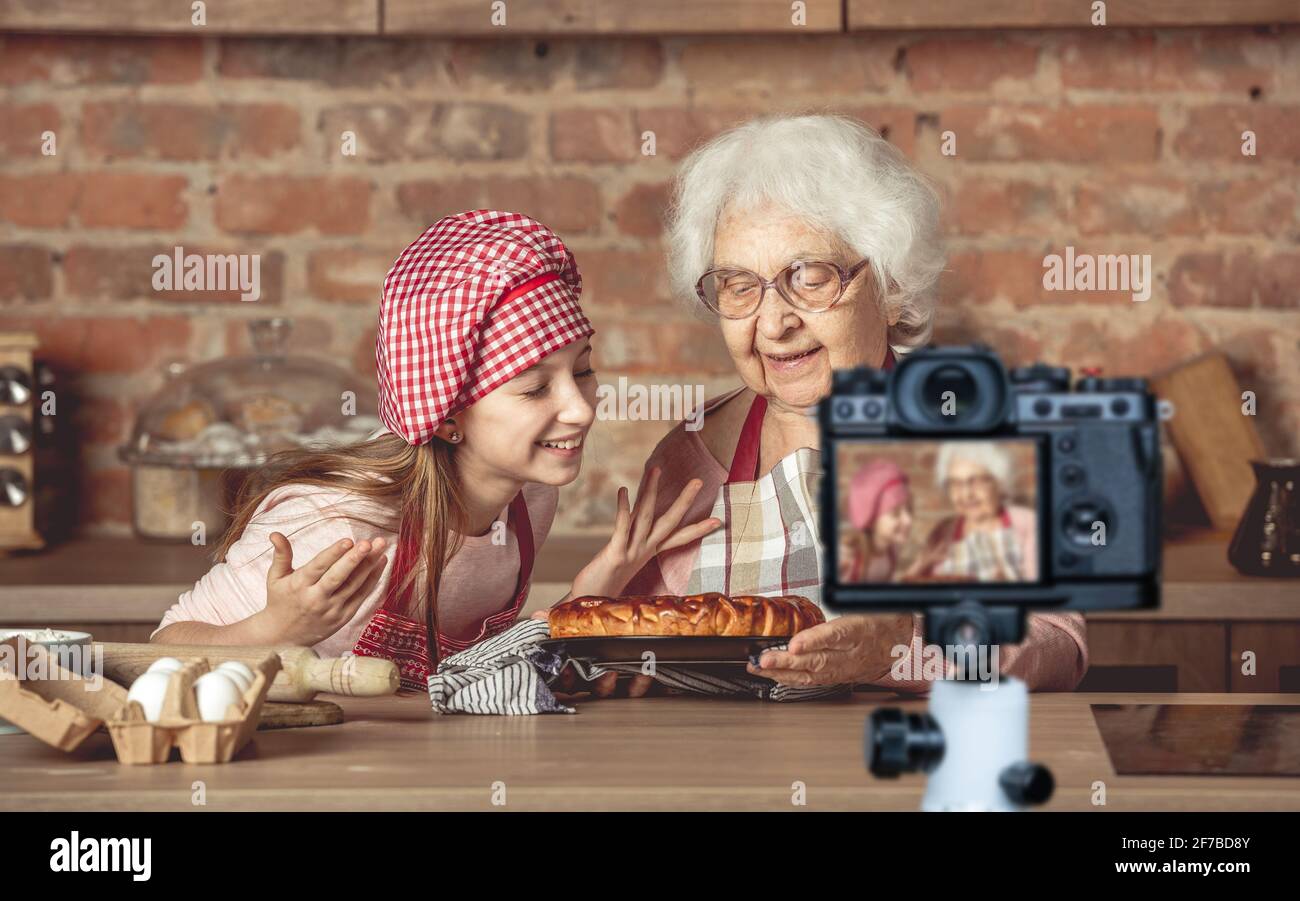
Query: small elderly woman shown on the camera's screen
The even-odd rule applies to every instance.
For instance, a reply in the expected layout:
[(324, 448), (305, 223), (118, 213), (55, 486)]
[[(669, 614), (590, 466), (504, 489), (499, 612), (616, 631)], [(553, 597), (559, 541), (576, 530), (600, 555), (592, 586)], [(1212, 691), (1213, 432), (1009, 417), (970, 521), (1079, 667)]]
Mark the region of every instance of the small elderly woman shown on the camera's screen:
[(991, 441), (949, 441), (939, 451), (935, 482), (954, 515), (940, 520), (907, 580), (930, 576), (975, 582), (1039, 577), (1037, 514), (1009, 502), (1010, 455)]

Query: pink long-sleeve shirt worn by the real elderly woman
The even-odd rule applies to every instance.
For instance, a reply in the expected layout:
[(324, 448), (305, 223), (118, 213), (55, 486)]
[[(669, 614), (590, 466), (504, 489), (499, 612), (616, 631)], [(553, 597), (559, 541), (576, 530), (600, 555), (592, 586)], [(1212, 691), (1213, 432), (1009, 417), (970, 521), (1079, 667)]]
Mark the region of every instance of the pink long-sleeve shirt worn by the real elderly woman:
[[(744, 395), (741, 395), (744, 397)], [(707, 417), (712, 411), (705, 413)], [(703, 481), (703, 488), (682, 523), (696, 523), (710, 515), (718, 489), (727, 481), (728, 468), (705, 446), (699, 430), (688, 430), (679, 423), (658, 443), (645, 468), (660, 467), (659, 493), (655, 503), (658, 516), (692, 478)], [(699, 553), (699, 541), (664, 551), (650, 560), (623, 589), (624, 594), (685, 594), (690, 572)], [(906, 655), (896, 662), (904, 675), (926, 672), (922, 618), (913, 616), (911, 642)], [(935, 667), (930, 667), (933, 672)], [(1088, 670), (1088, 629), (1082, 614), (1030, 614), (1024, 641), (998, 647), (998, 672), (1014, 676), (1032, 692), (1072, 692)], [(944, 663), (945, 676), (953, 667)], [(928, 675), (928, 673), (927, 673)], [(926, 692), (931, 679), (896, 679), (893, 672), (875, 680), (874, 685), (894, 692)]]

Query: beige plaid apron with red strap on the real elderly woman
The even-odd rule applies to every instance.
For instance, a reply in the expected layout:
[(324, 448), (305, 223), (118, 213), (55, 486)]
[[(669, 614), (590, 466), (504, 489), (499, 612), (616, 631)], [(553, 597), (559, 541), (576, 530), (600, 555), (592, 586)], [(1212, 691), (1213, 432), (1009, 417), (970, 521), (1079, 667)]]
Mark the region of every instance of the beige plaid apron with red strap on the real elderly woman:
[[(881, 368), (892, 369), (893, 364), (893, 351), (887, 351)], [(719, 398), (719, 403), (727, 398)], [(759, 439), (766, 412), (767, 398), (755, 395), (727, 481), (718, 489), (710, 514), (723, 525), (701, 540), (686, 593), (800, 594), (822, 607), (827, 619), (835, 619), (837, 614), (822, 605), (816, 508), (822, 455), (811, 447), (800, 447), (771, 472), (760, 475)]]

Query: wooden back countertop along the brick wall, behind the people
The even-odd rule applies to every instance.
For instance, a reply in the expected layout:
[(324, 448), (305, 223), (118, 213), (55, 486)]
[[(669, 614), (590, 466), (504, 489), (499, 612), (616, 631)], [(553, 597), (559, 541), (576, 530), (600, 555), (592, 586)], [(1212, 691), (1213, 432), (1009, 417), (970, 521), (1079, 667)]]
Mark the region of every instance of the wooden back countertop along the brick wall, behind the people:
[[(1178, 533), (1165, 545), (1160, 610), (1089, 614), (1089, 620), (1300, 619), (1300, 580), (1254, 579), (1227, 562), (1228, 536)], [(564, 594), (599, 550), (592, 537), (551, 537), (533, 569), (537, 603)], [(211, 567), (209, 549), (135, 538), (84, 538), (0, 556), (0, 623), (157, 623)]]

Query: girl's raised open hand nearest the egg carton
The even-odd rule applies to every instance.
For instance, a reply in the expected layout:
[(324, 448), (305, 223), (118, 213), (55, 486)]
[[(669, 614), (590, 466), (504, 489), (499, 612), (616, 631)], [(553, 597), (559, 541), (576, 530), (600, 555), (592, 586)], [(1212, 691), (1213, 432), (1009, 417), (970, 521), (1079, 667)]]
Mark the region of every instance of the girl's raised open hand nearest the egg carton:
[(294, 549), (270, 533), (276, 551), (266, 573), (268, 644), (315, 645), (347, 625), (384, 572), (384, 538), (355, 545), (344, 538), (294, 569)]

